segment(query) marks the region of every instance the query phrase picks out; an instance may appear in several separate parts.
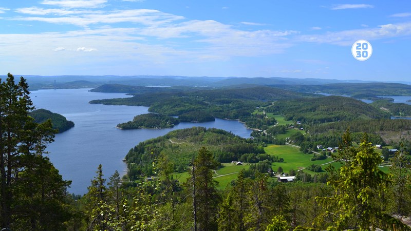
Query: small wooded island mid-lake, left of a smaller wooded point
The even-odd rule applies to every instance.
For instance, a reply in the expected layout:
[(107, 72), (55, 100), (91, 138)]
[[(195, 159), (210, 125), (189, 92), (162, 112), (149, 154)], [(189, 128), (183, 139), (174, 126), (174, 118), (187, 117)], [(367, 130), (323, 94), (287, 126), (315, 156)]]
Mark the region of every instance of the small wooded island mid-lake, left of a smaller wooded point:
[(172, 128), (174, 125), (180, 123), (180, 120), (174, 117), (169, 117), (167, 115), (147, 113), (136, 115), (133, 121), (128, 121), (126, 123), (121, 123), (117, 125), (117, 128), (127, 130), (127, 129), (138, 129), (138, 128)]

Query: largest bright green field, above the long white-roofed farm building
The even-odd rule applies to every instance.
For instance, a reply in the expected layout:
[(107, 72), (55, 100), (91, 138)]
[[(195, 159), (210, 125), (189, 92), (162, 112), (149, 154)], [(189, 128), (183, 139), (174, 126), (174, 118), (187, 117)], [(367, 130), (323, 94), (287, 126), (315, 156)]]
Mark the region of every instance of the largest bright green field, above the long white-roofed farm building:
[[(274, 162), (272, 169), (275, 171), (278, 167), (282, 167), (284, 172), (289, 172), (290, 169), (298, 170), (305, 168), (311, 164), (325, 164), (331, 162), (331, 158), (325, 160), (311, 161), (312, 154), (304, 154), (297, 147), (290, 145), (269, 145), (264, 148), (266, 153), (278, 156), (284, 159), (283, 163)], [(324, 166), (325, 168), (325, 166)]]

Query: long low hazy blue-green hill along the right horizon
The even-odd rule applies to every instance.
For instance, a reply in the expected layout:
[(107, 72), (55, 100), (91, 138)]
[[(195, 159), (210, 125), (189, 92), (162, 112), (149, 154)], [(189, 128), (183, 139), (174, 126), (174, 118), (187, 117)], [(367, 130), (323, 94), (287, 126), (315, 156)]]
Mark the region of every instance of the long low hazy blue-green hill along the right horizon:
[(296, 85), (278, 86), (284, 89), (292, 89), (300, 92), (321, 92), (337, 95), (363, 95), (368, 97), (390, 96), (390, 95), (411, 95), (411, 85), (399, 83), (334, 83), (323, 85)]

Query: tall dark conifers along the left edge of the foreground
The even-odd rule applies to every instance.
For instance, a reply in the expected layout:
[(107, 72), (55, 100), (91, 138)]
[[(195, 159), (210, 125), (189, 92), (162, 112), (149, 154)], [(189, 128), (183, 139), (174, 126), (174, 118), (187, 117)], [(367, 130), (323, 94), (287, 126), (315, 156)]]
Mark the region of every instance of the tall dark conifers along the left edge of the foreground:
[(57, 132), (51, 121), (35, 123), (26, 80), (0, 80), (0, 227), (65, 230), (72, 214), (63, 181), (47, 157)]

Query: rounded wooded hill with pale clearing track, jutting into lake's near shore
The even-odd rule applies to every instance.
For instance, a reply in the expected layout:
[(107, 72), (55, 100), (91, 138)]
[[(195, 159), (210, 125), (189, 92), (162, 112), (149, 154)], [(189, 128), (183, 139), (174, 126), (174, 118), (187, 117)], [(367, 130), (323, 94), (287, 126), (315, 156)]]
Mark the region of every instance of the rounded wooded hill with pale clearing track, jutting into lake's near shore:
[(185, 171), (202, 147), (214, 153), (215, 160), (231, 162), (245, 153), (264, 153), (264, 148), (233, 133), (216, 129), (193, 127), (174, 130), (163, 137), (147, 140), (130, 149), (125, 159), (130, 179), (152, 175), (153, 161), (164, 153), (175, 165), (175, 170)]

